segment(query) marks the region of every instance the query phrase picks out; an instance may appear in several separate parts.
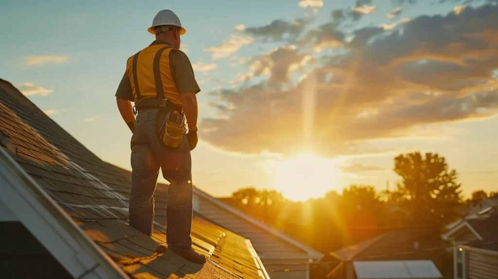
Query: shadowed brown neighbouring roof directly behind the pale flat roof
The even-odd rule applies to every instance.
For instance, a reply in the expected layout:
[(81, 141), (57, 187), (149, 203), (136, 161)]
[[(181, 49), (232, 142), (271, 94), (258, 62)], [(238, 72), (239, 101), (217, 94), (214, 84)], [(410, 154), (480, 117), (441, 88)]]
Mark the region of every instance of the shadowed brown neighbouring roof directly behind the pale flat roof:
[[(334, 251), (331, 255), (339, 257), (342, 261), (417, 258), (425, 255), (424, 253), (434, 253), (422, 249), (440, 247), (440, 241), (438, 228), (395, 229)], [(418, 248), (415, 245), (418, 245)]]

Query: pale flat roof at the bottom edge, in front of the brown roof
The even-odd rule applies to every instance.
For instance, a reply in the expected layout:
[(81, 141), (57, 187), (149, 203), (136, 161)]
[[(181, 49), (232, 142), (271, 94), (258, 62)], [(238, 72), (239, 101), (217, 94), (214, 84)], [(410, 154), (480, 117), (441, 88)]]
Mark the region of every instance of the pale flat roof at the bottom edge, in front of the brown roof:
[(358, 279), (443, 278), (430, 260), (353, 262)]

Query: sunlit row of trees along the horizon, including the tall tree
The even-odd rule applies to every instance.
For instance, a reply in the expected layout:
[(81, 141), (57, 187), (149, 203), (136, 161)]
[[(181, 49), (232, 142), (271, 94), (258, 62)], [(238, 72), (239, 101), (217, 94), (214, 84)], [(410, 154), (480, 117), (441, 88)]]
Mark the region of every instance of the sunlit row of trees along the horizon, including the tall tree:
[(400, 154), (393, 171), (400, 180), (392, 191), (351, 185), (323, 197), (294, 202), (280, 192), (246, 187), (222, 198), (250, 216), (328, 253), (399, 227), (439, 227), (457, 220), (468, 206), (498, 191), (477, 190), (464, 200), (457, 171), (437, 153)]

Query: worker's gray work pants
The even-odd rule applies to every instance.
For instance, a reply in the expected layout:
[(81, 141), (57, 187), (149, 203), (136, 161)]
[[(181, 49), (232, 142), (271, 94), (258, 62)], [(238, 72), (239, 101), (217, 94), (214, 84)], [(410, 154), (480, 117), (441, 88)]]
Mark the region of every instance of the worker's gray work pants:
[[(129, 225), (152, 236), (154, 191), (159, 168), (170, 183), (166, 207), (168, 248), (187, 250), (192, 246), (193, 186), (192, 161), (187, 136), (179, 147), (166, 146), (158, 137), (164, 110), (149, 108), (138, 112), (131, 136), (131, 193)], [(159, 122), (159, 123), (157, 123)]]

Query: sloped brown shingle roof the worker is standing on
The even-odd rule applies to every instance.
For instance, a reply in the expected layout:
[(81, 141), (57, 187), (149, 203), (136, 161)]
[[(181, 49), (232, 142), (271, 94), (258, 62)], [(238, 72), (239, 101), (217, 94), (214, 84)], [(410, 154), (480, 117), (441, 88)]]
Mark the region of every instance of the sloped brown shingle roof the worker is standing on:
[(0, 130), (16, 147), (12, 158), (130, 276), (231, 279), (258, 278), (264, 272), (247, 239), (199, 216), (193, 219), (193, 248), (210, 260), (197, 265), (167, 250), (161, 193), (153, 239), (128, 226), (129, 177), (91, 153), (1, 79)]

